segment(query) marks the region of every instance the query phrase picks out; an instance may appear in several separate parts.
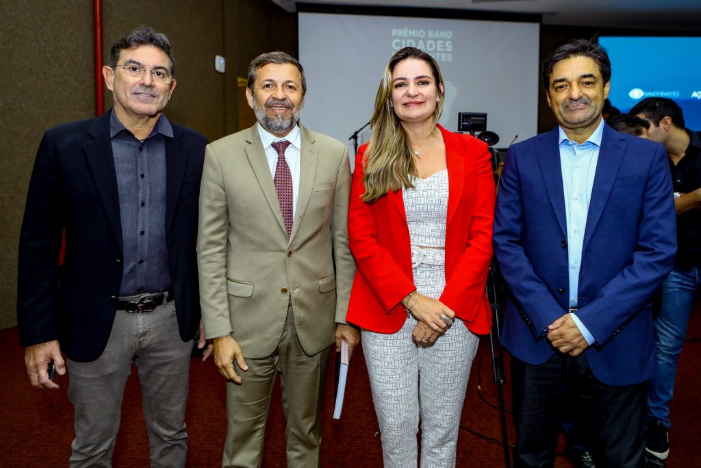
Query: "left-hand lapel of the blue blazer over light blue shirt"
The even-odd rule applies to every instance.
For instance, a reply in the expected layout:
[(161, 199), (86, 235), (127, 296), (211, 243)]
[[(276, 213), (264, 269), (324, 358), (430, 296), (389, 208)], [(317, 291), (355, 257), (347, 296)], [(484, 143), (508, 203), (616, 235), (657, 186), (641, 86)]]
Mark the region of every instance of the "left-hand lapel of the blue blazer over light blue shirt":
[(557, 222), (562, 229), (564, 239), (567, 238), (567, 215), (565, 213), (565, 196), (562, 188), (562, 166), (560, 165), (558, 127), (548, 133), (538, 136), (536, 159), (543, 174), (543, 182), (550, 204), (557, 216)]

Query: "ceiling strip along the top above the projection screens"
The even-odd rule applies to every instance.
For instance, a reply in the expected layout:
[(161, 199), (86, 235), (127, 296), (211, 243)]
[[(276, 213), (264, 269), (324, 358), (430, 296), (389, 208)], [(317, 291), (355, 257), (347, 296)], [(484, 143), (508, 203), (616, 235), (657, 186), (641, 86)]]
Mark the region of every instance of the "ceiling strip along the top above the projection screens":
[(287, 11), (298, 3), (329, 6), (452, 8), (543, 15), (544, 25), (621, 27), (701, 34), (701, 0), (272, 0)]

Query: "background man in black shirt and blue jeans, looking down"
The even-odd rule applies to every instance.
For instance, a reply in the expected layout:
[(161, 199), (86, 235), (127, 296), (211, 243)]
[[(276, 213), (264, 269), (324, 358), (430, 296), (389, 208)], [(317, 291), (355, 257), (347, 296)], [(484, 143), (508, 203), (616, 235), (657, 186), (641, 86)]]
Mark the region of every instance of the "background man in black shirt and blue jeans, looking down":
[(681, 107), (671, 99), (646, 98), (630, 109), (648, 121), (647, 137), (662, 143), (672, 171), (676, 241), (674, 269), (662, 283), (662, 306), (655, 315), (660, 372), (648, 387), (648, 458), (669, 456), (669, 402), (686, 327), (701, 287), (701, 133), (685, 128)]

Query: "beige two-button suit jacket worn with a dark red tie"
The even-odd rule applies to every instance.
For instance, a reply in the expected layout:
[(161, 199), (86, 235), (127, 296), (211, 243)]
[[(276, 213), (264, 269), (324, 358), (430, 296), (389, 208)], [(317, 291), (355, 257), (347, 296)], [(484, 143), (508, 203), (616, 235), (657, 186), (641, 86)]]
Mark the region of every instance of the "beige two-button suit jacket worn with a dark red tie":
[(198, 269), (207, 338), (231, 333), (246, 358), (270, 356), (287, 305), (304, 351), (346, 323), (355, 263), (348, 250), (348, 150), (301, 128), (299, 196), (287, 238), (256, 126), (207, 145), (200, 188)]

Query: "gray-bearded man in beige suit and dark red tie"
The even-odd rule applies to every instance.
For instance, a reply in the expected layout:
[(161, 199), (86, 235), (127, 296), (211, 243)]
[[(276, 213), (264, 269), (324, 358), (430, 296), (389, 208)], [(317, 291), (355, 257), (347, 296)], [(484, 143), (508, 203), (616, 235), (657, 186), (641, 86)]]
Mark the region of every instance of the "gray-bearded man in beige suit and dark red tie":
[[(329, 350), (346, 324), (355, 263), (348, 250), (351, 169), (339, 141), (299, 125), (306, 81), (297, 60), (265, 53), (248, 68), (258, 123), (207, 146), (198, 266), (205, 335), (226, 377), (223, 467), (258, 467), (280, 373), (287, 466), (319, 464)], [(334, 333), (335, 330), (335, 333)]]

